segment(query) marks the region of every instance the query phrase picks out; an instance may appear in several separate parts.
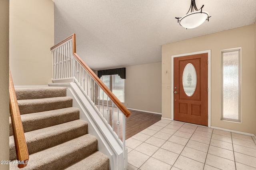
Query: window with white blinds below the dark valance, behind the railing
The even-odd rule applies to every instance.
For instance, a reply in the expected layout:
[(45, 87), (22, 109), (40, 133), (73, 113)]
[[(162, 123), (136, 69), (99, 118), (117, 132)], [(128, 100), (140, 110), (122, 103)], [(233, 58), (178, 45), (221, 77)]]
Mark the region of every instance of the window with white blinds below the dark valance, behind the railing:
[[(102, 80), (120, 102), (124, 102), (124, 79), (120, 78), (118, 74), (114, 74), (101, 76), (100, 80)], [(100, 100), (107, 100), (107, 95), (101, 89)]]

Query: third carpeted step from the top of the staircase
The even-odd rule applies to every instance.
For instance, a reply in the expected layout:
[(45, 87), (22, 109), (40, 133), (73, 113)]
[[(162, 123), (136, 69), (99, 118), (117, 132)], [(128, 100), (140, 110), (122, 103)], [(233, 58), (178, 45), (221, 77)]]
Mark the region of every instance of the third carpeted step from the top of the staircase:
[[(79, 119), (79, 109), (75, 107), (67, 107), (50, 111), (37, 113), (28, 113), (20, 115), (24, 132), (34, 131), (45, 127), (66, 123)], [(10, 136), (12, 133), (12, 123), (9, 120)]]

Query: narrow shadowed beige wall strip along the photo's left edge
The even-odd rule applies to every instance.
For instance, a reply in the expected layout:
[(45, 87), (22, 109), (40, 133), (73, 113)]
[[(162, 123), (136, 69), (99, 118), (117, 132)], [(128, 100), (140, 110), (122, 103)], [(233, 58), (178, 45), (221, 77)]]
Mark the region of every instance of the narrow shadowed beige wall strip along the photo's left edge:
[[(0, 161), (9, 160), (9, 1), (0, 0)], [(0, 164), (1, 170), (9, 166)]]

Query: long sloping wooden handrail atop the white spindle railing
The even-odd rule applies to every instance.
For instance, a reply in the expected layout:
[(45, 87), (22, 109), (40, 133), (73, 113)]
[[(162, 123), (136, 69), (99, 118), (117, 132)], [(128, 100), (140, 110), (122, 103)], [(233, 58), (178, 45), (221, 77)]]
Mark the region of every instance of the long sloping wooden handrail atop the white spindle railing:
[(76, 54), (74, 53), (73, 56), (78, 61), (78, 63), (81, 64), (81, 66), (90, 74), (90, 76), (94, 79), (94, 81), (102, 88), (102, 90), (108, 95), (108, 97), (112, 100), (114, 104), (116, 104), (116, 107), (118, 107), (126, 117), (130, 116), (130, 111), (116, 98), (116, 96), (108, 89), (108, 87), (98, 78), (98, 76), (92, 71), (90, 67), (88, 67), (84, 61)]

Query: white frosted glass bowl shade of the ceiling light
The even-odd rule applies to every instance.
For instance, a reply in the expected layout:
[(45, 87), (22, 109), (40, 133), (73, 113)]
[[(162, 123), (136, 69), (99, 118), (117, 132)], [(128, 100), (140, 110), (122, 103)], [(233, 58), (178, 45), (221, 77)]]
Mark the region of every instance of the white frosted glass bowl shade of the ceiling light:
[(195, 28), (204, 23), (208, 17), (209, 14), (206, 11), (191, 12), (180, 18), (180, 25), (187, 29)]

